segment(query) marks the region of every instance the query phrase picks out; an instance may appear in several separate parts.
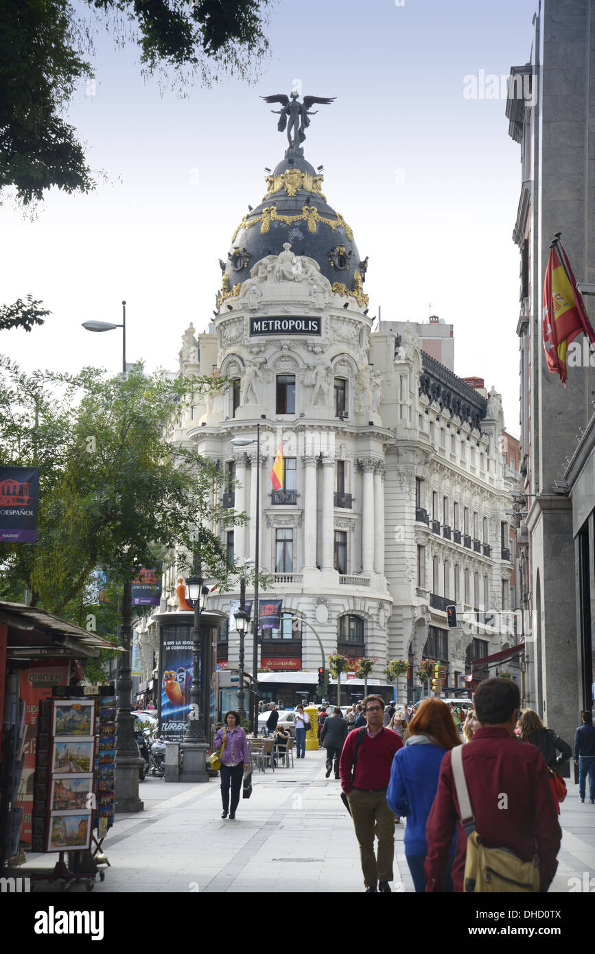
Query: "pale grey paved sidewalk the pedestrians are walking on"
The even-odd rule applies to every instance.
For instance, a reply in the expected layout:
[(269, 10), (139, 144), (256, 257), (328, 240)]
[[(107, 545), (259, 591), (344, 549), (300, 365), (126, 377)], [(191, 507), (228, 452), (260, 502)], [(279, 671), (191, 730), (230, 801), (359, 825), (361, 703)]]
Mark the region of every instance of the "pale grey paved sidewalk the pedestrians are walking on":
[[(339, 798), (339, 781), (324, 778), (325, 753), (308, 752), (294, 768), (255, 772), (253, 795), (240, 800), (234, 821), (221, 819), (218, 780), (168, 783), (147, 778), (145, 811), (116, 816), (104, 841), (111, 862), (93, 895), (138, 891), (219, 893), (293, 891), (361, 893), (363, 879), (353, 823)], [(595, 806), (578, 802), (570, 784), (562, 805), (564, 839), (550, 891), (595, 891)], [(412, 892), (396, 826), (394, 892)], [(56, 855), (29, 855), (49, 868)], [(26, 868), (22, 869), (26, 876)], [(575, 881), (571, 881), (575, 879)], [(581, 885), (579, 887), (578, 885)], [(34, 893), (59, 885), (40, 882)], [(82, 884), (71, 893), (82, 892)]]

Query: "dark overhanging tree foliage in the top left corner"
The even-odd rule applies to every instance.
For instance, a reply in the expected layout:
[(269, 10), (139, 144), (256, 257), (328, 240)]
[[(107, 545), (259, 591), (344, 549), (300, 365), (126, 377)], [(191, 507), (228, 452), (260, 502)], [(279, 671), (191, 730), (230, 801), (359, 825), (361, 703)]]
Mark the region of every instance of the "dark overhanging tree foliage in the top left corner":
[[(220, 73), (250, 76), (268, 47), (262, 28), (271, 2), (87, 0), (92, 14), (111, 17), (118, 40), (133, 31), (146, 73), (188, 68), (207, 84)], [(94, 188), (76, 130), (63, 118), (76, 84), (92, 80), (90, 49), (90, 26), (68, 0), (0, 5), (0, 194), (13, 186), (27, 204), (51, 186)]]

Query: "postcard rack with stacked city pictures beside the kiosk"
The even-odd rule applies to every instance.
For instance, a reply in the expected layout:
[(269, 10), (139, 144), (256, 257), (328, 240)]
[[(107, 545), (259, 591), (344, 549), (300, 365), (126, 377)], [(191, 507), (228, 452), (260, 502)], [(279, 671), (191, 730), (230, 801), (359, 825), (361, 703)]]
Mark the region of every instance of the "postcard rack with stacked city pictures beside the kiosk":
[(82, 881), (92, 891), (110, 861), (102, 843), (113, 825), (115, 696), (109, 686), (92, 694), (57, 686), (40, 703), (33, 784), (32, 850), (58, 853), (51, 871), (31, 881)]

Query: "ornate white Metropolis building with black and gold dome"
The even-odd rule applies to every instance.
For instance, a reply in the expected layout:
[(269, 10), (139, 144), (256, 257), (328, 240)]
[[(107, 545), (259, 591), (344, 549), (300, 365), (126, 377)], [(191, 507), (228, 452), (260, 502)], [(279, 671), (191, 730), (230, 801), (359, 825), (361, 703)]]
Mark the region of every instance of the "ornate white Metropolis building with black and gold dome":
[[(292, 701), (298, 684), (315, 684), (318, 639), (325, 656), (375, 657), (371, 687), (386, 686), (388, 659), (408, 660), (401, 700), (420, 690), (415, 670), (426, 656), (446, 667), (450, 689), (468, 688), (473, 660), (515, 638), (499, 396), (453, 373), (452, 326), (375, 324), (349, 218), (328, 203), (322, 176), (295, 144), (220, 264), (215, 321), (184, 333), (179, 369), (215, 368), (233, 384), (181, 417), (174, 439), (225, 468), (222, 502), (250, 521), (213, 529), (239, 564), (255, 557), (258, 508), (259, 567), (273, 580), (260, 599), (280, 599), (283, 609), (280, 630), (262, 633), (261, 695)], [(237, 437), (255, 443), (237, 447)], [(175, 613), (175, 583), (172, 569), (159, 620)], [(238, 597), (238, 584), (214, 591), (210, 608), (229, 618)], [(460, 611), (454, 630), (451, 603)], [(159, 625), (149, 620), (139, 632), (147, 684)], [(216, 658), (237, 670), (229, 625)]]

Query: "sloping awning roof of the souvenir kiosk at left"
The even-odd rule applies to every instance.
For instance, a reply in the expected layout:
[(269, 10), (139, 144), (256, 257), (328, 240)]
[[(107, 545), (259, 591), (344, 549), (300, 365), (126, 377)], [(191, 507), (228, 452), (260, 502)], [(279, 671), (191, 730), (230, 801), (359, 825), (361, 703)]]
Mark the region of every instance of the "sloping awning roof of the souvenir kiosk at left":
[[(119, 650), (109, 640), (89, 633), (52, 612), (24, 603), (0, 602), (0, 623), (6, 627), (8, 659), (43, 659), (51, 656), (97, 656), (99, 650)], [(4, 627), (0, 627), (0, 633)]]

